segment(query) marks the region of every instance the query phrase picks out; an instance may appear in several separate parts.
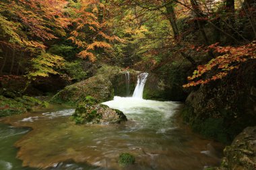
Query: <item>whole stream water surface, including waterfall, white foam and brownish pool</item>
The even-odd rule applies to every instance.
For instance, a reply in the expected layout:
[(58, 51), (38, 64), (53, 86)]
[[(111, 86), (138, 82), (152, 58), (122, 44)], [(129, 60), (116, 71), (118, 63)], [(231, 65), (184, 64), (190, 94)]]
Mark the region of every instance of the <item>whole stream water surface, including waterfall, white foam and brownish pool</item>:
[[(139, 77), (142, 91), (147, 76)], [(0, 169), (197, 170), (220, 163), (222, 145), (193, 134), (177, 121), (181, 103), (145, 100), (137, 92), (136, 97), (104, 103), (126, 114), (129, 121), (121, 124), (75, 125), (69, 120), (72, 109), (4, 118), (11, 126), (0, 124)], [(120, 167), (121, 153), (134, 155), (135, 165)]]

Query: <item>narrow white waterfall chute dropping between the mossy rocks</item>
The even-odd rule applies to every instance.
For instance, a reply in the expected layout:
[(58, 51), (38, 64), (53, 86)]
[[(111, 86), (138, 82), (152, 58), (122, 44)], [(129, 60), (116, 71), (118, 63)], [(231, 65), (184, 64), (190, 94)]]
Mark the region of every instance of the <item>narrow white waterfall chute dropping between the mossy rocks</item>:
[(148, 77), (148, 73), (141, 73), (138, 75), (137, 85), (133, 92), (133, 97), (142, 99), (143, 89), (144, 89), (145, 83), (147, 81), (147, 77)]

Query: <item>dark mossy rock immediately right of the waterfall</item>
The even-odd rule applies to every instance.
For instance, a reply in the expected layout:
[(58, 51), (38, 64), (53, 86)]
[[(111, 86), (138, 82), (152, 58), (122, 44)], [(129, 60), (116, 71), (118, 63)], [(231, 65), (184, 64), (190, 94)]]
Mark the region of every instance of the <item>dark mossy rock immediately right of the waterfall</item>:
[(182, 87), (187, 82), (191, 65), (187, 62), (168, 62), (154, 73), (149, 73), (143, 98), (185, 101), (188, 93)]

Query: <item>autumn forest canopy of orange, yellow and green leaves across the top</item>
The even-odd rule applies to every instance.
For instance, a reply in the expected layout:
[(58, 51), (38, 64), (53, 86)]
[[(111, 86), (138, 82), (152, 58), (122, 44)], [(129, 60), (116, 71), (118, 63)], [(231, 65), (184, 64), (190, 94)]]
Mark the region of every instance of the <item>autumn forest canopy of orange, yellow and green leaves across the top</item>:
[(154, 70), (183, 60), (197, 68), (183, 87), (207, 83), (255, 60), (255, 7), (253, 0), (3, 0), (0, 75), (78, 81), (84, 62)]

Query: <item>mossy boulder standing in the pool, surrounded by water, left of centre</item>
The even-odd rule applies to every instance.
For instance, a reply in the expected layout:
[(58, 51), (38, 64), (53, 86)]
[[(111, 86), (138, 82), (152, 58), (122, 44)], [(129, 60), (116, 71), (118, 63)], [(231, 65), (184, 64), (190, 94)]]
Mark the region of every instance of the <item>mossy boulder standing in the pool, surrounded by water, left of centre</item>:
[(96, 99), (91, 96), (87, 96), (85, 101), (77, 105), (71, 118), (76, 124), (119, 124), (127, 121), (123, 112), (97, 103)]

